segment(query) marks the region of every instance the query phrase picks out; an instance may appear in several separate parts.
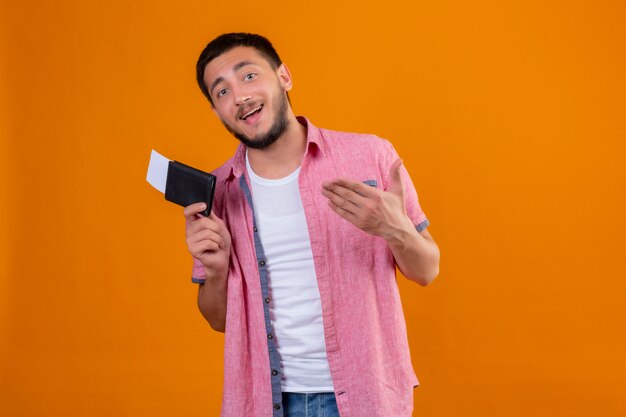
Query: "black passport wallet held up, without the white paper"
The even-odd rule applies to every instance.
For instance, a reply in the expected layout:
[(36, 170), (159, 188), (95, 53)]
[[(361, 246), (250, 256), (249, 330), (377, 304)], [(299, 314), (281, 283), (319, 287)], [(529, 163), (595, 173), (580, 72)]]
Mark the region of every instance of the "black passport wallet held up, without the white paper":
[(206, 203), (203, 216), (211, 214), (215, 175), (200, 171), (182, 162), (170, 161), (165, 182), (165, 199), (183, 207), (193, 203)]

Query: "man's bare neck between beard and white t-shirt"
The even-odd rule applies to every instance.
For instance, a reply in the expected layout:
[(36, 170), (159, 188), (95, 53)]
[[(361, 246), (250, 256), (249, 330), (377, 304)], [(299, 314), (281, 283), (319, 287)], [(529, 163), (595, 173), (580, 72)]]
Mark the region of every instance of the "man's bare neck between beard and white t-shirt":
[(248, 160), (254, 172), (263, 178), (284, 178), (302, 163), (306, 147), (306, 127), (302, 126), (289, 109), (289, 127), (271, 146), (265, 149), (248, 148)]

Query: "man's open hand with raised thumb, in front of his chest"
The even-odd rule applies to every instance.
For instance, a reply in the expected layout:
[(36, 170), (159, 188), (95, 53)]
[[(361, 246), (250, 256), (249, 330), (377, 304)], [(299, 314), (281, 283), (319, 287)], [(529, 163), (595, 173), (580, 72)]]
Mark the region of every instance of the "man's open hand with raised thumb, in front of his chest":
[(401, 166), (400, 159), (391, 165), (387, 191), (339, 178), (324, 182), (322, 194), (335, 213), (359, 229), (389, 241), (397, 232), (414, 228), (404, 208)]

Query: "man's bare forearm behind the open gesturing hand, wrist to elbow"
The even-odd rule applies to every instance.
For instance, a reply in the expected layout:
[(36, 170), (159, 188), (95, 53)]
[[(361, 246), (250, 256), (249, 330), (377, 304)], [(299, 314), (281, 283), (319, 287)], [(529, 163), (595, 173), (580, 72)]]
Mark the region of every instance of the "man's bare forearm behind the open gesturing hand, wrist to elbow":
[(426, 231), (420, 234), (413, 224), (387, 239), (402, 274), (420, 285), (430, 284), (439, 274), (439, 248)]

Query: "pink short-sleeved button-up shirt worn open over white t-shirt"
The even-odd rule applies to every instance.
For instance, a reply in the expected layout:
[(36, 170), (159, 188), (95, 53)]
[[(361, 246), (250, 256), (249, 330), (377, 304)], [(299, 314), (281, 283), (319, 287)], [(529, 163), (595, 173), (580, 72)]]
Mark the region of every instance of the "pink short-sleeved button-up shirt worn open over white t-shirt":
[[(307, 146), (298, 178), (322, 302), (324, 338), (341, 417), (410, 417), (418, 381), (411, 365), (393, 254), (328, 207), (324, 181), (344, 177), (386, 190), (398, 158), (372, 135), (319, 129), (307, 119)], [(280, 357), (269, 305), (266, 259), (256, 231), (245, 148), (214, 174), (213, 210), (232, 236), (224, 352), (222, 417), (282, 417)], [(402, 168), (407, 214), (428, 226)], [(195, 261), (193, 281), (204, 268)], [(294, 279), (298, 279), (294, 274)]]

